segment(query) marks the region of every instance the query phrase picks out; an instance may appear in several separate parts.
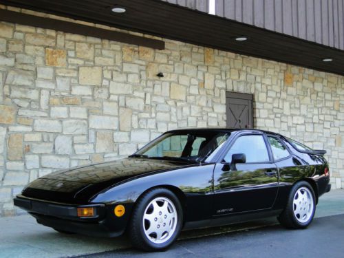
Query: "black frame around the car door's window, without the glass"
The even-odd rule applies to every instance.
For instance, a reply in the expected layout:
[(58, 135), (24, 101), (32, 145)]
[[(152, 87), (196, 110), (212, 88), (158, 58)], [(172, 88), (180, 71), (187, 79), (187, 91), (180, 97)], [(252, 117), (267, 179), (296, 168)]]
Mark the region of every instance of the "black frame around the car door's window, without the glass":
[(268, 161), (264, 161), (264, 162), (245, 162), (245, 163), (242, 163), (242, 164), (273, 164), (274, 163), (270, 146), (268, 146), (268, 144), (269, 144), (268, 138), (266, 137), (266, 133), (264, 133), (262, 131), (250, 131), (250, 132), (245, 131), (245, 132), (242, 132), (242, 133), (241, 132), (237, 133), (230, 140), (230, 142), (228, 142), (228, 145), (224, 146), (224, 151), (223, 151), (222, 155), (220, 156), (219, 163), (230, 164), (229, 162), (225, 162), (224, 161), (224, 157), (226, 157), (228, 151), (230, 150), (231, 147), (233, 147), (233, 144), (237, 141), (237, 139), (239, 137), (242, 137), (242, 136), (262, 136), (263, 140), (264, 140), (264, 143), (265, 143), (266, 150), (268, 151), (268, 157), (269, 157)]

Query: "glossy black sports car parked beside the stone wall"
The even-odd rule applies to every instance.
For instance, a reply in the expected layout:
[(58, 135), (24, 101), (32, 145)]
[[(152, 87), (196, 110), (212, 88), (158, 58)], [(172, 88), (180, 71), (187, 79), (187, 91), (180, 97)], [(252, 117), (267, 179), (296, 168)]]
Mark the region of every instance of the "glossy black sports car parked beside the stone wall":
[(45, 175), (14, 204), (62, 233), (162, 250), (180, 230), (278, 216), (305, 228), (330, 191), (325, 151), (252, 129), (168, 131), (122, 160)]

